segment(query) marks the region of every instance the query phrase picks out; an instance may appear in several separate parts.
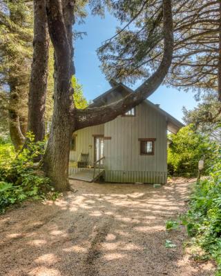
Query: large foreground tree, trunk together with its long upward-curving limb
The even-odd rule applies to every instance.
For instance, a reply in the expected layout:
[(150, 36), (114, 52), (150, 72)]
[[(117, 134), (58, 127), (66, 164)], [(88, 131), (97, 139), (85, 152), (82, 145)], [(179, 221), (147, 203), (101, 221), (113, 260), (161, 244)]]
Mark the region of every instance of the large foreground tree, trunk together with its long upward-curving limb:
[(47, 0), (48, 30), (55, 50), (55, 94), (52, 126), (44, 156), (44, 170), (57, 190), (68, 190), (68, 159), (70, 139), (75, 130), (102, 124), (141, 103), (162, 83), (171, 65), (173, 55), (173, 19), (171, 1), (163, 0), (164, 55), (160, 66), (136, 92), (117, 103), (99, 108), (80, 110), (73, 104), (70, 79), (73, 67), (73, 10), (70, 0)]

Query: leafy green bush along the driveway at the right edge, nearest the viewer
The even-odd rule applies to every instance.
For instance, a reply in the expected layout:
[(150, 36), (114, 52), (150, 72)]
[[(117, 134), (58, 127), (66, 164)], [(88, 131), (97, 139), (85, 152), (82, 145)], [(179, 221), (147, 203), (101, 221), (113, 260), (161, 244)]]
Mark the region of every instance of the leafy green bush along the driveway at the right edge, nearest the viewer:
[(216, 260), (217, 275), (221, 275), (221, 155), (211, 167), (209, 179), (195, 184), (183, 223), (193, 242)]

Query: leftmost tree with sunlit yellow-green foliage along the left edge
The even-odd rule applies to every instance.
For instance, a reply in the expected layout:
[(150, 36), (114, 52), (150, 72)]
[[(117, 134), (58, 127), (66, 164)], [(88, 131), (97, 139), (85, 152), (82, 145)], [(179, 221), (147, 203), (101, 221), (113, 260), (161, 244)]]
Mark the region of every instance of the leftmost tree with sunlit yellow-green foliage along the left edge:
[(10, 137), (18, 150), (23, 144), (28, 121), (32, 10), (23, 0), (1, 1), (0, 5), (1, 112), (6, 115), (8, 110)]

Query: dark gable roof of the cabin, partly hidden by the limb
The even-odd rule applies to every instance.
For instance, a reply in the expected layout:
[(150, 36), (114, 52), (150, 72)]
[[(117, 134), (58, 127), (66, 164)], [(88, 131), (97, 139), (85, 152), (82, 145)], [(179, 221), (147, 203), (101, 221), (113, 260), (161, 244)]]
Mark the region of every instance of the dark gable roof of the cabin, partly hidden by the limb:
[[(111, 95), (112, 98), (115, 97), (124, 97), (125, 95), (128, 95), (129, 93), (133, 93), (134, 91), (131, 88), (128, 88), (128, 86), (125, 86), (123, 83), (117, 83), (116, 81), (114, 83), (111, 83), (113, 87), (106, 92), (104, 92), (102, 95), (99, 95), (97, 98), (93, 99), (93, 103), (90, 104), (91, 107), (95, 106), (103, 106), (105, 104), (108, 104), (108, 98), (110, 99)], [(113, 100), (114, 101), (114, 100)], [(166, 117), (167, 121), (167, 129), (170, 132), (177, 133), (180, 128), (184, 126), (181, 121), (178, 121), (170, 115), (168, 112), (162, 110), (159, 105), (156, 105), (155, 103), (152, 103), (148, 99), (144, 100), (144, 103), (146, 103), (147, 106), (153, 108), (157, 112), (160, 112), (164, 117)]]

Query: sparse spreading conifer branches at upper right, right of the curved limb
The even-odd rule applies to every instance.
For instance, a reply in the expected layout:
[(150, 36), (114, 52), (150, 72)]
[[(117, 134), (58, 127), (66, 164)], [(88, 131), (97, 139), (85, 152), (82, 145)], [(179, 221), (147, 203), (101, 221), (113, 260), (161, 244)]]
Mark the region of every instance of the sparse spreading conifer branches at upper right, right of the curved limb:
[(221, 95), (221, 3), (187, 1), (177, 13), (177, 43), (168, 83)]

